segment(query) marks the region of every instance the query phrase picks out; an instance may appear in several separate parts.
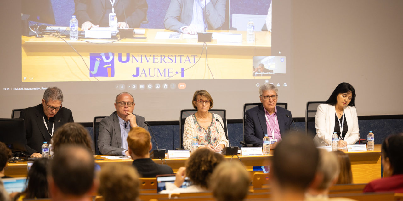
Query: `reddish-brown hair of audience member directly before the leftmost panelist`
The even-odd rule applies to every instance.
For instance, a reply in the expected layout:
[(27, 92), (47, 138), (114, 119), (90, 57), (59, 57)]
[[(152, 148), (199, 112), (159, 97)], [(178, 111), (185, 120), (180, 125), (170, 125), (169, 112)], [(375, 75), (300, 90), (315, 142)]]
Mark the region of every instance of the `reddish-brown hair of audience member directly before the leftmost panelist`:
[(78, 145), (92, 151), (88, 131), (78, 123), (66, 123), (59, 127), (53, 136), (53, 150), (58, 152), (62, 145)]

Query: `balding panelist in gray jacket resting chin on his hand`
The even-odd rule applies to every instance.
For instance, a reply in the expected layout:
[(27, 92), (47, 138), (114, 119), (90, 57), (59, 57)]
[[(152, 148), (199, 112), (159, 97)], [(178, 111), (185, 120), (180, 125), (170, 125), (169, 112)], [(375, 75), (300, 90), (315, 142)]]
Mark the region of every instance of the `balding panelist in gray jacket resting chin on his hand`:
[(98, 148), (102, 155), (130, 156), (127, 146), (127, 135), (130, 128), (143, 127), (144, 117), (133, 114), (134, 98), (129, 92), (122, 92), (116, 96), (115, 109), (108, 117), (100, 122)]

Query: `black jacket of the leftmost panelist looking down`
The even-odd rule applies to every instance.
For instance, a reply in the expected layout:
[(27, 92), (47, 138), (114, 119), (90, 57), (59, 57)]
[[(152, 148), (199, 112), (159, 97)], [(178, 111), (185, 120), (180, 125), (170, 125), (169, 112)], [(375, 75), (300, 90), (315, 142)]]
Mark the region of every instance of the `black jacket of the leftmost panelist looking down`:
[[(50, 144), (50, 140), (52, 139), (52, 136), (49, 134), (44, 124), (43, 113), (42, 104), (21, 111), (20, 118), (24, 119), (25, 122), (27, 152), (29, 155), (35, 152), (41, 153), (42, 144), (44, 144), (44, 142)], [(62, 107), (62, 109), (54, 115), (53, 134), (56, 133), (60, 126), (69, 122), (74, 122), (73, 114), (71, 110)]]

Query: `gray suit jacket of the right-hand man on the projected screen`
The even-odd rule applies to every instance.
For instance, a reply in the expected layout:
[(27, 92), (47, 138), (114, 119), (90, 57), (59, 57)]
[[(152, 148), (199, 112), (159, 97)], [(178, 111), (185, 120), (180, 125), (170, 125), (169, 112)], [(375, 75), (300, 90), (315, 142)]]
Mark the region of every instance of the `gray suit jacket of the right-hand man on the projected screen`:
[[(225, 21), (226, 0), (210, 0), (206, 4), (206, 21), (208, 29), (219, 29)], [(189, 26), (193, 16), (193, 0), (171, 0), (164, 19), (165, 29), (179, 31)]]

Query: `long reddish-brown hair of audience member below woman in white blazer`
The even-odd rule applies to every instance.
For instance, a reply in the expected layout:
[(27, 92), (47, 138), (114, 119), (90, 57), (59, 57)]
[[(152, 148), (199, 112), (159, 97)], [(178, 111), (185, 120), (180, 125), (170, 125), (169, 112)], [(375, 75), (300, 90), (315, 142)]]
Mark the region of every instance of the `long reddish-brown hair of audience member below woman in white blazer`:
[(351, 162), (349, 156), (340, 150), (332, 153), (336, 154), (337, 161), (340, 165), (340, 174), (336, 184), (353, 183), (353, 172), (351, 172)]

